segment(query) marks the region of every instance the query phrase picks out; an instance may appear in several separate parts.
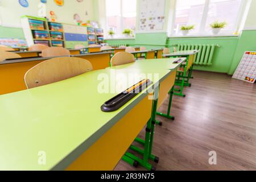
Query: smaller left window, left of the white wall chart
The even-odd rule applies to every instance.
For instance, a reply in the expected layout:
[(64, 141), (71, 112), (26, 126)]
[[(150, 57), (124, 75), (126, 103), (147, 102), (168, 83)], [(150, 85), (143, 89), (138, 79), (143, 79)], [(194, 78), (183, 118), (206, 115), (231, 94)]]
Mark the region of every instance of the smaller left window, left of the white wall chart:
[(125, 28), (135, 31), (137, 17), (137, 0), (106, 0), (107, 31), (115, 32), (119, 38)]

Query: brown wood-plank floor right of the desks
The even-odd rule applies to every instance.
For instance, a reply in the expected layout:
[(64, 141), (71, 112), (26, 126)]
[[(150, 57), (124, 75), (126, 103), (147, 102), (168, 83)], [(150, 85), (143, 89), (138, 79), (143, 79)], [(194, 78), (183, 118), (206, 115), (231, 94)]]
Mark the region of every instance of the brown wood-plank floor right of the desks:
[[(193, 76), (192, 87), (184, 92), (187, 97), (174, 96), (176, 120), (158, 117), (164, 125), (155, 130), (153, 153), (160, 157), (156, 169), (256, 170), (256, 85), (221, 73)], [(209, 164), (210, 151), (217, 152), (217, 165)], [(115, 170), (144, 169), (121, 161)]]

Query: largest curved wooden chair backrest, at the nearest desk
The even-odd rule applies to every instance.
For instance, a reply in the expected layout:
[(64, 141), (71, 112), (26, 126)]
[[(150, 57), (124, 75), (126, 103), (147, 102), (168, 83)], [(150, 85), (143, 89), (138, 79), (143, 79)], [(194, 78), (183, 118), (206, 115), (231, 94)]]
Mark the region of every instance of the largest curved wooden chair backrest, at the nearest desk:
[(35, 65), (25, 75), (27, 88), (35, 88), (66, 80), (92, 71), (92, 64), (79, 57), (56, 57)]

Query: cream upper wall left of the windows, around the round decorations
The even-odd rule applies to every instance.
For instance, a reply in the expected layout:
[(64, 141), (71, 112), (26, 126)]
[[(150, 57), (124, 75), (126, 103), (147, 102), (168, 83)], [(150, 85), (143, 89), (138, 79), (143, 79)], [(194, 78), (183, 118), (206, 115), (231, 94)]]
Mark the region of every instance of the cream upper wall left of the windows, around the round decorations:
[[(55, 4), (53, 0), (48, 0), (46, 4), (47, 16), (49, 11), (55, 11), (57, 15), (57, 22), (75, 24), (73, 20), (74, 14), (79, 14), (82, 21), (95, 20), (94, 1), (84, 0), (77, 2), (76, 0), (65, 0), (64, 6), (60, 7)], [(21, 27), (20, 16), (38, 16), (39, 0), (30, 0), (29, 7), (22, 7), (19, 5), (18, 0), (0, 0), (0, 19), (2, 26), (7, 27)], [(88, 15), (85, 15), (86, 11)]]

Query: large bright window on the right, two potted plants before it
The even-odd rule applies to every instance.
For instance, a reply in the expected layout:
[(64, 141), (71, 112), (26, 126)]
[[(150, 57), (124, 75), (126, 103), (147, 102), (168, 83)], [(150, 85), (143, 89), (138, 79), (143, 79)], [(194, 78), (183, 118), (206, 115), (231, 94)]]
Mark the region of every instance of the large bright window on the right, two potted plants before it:
[(242, 0), (176, 0), (172, 35), (181, 35), (180, 27), (194, 25), (191, 35), (209, 35), (210, 24), (218, 20), (228, 23), (220, 34), (233, 34), (238, 31), (242, 15)]

